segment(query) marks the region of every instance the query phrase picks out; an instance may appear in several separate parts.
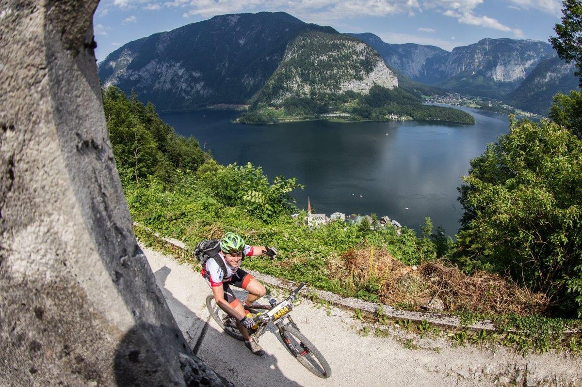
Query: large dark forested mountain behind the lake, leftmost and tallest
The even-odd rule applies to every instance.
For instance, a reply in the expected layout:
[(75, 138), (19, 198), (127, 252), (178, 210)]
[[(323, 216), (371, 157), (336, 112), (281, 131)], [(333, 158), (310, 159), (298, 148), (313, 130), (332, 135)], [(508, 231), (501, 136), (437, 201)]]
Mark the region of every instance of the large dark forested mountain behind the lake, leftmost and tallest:
[(284, 12), (215, 16), (123, 45), (98, 65), (99, 76), (158, 111), (244, 104), (306, 31), (337, 33)]

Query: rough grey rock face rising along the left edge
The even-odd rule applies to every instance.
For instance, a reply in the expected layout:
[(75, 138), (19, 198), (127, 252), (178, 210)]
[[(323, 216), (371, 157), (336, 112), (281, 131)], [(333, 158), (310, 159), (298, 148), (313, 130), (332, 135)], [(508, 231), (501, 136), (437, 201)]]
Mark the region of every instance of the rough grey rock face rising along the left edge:
[(96, 6), (0, 5), (0, 385), (222, 385), (133, 236), (101, 105)]

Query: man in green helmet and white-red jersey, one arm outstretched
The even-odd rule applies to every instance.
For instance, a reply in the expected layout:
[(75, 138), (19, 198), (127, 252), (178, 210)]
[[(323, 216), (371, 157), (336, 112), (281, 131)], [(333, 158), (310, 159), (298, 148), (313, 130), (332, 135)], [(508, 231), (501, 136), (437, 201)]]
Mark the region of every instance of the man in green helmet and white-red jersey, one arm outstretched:
[[(247, 311), (244, 310), (243, 305), (235, 294), (230, 289), (229, 285), (242, 288), (249, 292), (247, 299), (244, 300), (245, 305), (250, 305), (254, 301), (260, 299), (265, 295), (267, 290), (252, 274), (240, 268), (240, 263), (244, 256), (258, 256), (265, 255), (275, 257), (277, 250), (269, 248), (269, 246), (249, 246), (246, 245), (239, 235), (234, 232), (227, 232), (220, 241), (221, 251), (214, 259), (208, 259), (202, 268), (202, 276), (207, 284), (212, 289), (212, 294), (217, 305), (229, 314), (236, 318), (236, 327), (239, 328), (240, 333), (244, 338), (244, 345), (257, 356), (262, 356), (265, 351), (251, 339), (247, 328), (253, 326), (253, 320), (246, 316)], [(223, 273), (221, 266), (216, 260), (221, 259), (226, 266), (226, 274)]]

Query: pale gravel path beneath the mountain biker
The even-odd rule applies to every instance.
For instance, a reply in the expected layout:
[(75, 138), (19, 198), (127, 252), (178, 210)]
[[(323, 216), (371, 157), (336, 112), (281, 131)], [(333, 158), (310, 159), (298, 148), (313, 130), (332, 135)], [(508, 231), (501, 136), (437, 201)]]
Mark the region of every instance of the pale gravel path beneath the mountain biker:
[[(144, 248), (144, 253), (190, 347), (236, 386), (582, 386), (580, 356), (522, 357), (503, 347), (451, 347), (445, 339), (398, 331), (378, 338), (374, 328), (363, 336), (360, 321), (351, 313), (333, 308), (328, 315), (325, 308), (302, 300), (293, 309), (293, 319), (332, 368), (329, 379), (320, 379), (290, 356), (275, 327), (261, 336), (265, 355), (254, 356), (210, 318), (205, 298), (211, 291), (200, 273), (154, 250)], [(416, 349), (406, 348), (407, 338)]]

